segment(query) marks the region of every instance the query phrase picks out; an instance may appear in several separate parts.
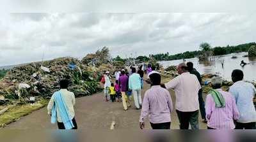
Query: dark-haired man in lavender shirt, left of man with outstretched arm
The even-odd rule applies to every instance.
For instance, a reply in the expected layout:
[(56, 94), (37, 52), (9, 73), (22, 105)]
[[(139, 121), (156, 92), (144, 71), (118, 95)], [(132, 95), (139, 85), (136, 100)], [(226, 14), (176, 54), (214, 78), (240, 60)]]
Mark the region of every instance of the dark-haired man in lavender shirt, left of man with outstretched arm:
[(145, 127), (145, 117), (149, 118), (152, 129), (170, 129), (172, 99), (168, 90), (161, 85), (161, 75), (154, 72), (149, 74), (152, 87), (145, 92), (142, 103), (140, 128)]

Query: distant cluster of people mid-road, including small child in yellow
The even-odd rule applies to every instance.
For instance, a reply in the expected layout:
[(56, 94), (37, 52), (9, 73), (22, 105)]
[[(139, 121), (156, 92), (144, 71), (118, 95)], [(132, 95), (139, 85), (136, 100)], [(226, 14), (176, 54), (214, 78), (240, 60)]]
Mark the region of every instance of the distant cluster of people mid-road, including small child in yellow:
[[(128, 110), (131, 107), (131, 94), (133, 94), (134, 104), (136, 109), (141, 109), (141, 89), (143, 88), (143, 76), (144, 72), (142, 66), (139, 67), (136, 71), (136, 67), (130, 67), (130, 71), (121, 71), (115, 72), (115, 85), (111, 83), (111, 77), (109, 72), (106, 71), (104, 74), (104, 95), (106, 101), (108, 101), (108, 96), (110, 95), (112, 101), (115, 96), (120, 96), (122, 100), (124, 110)], [(110, 89), (110, 94), (109, 94)], [(113, 93), (111, 93), (113, 92)], [(121, 99), (122, 98), (122, 99)], [(115, 99), (114, 99), (115, 100)]]

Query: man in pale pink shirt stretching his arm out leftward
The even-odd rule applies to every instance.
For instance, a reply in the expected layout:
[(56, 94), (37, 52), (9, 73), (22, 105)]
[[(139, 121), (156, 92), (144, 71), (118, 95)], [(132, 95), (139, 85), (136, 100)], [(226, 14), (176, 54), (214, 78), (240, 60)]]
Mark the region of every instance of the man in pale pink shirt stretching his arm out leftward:
[(179, 76), (162, 85), (166, 89), (174, 89), (176, 96), (175, 108), (180, 122), (180, 129), (199, 129), (198, 126), (198, 91), (201, 85), (195, 75), (188, 72), (185, 63), (177, 67)]

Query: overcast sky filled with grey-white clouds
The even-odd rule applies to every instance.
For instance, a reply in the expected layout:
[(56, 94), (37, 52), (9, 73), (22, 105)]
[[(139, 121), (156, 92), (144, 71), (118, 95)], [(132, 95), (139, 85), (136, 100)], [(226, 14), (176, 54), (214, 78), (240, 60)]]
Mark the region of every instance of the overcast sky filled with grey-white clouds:
[(0, 20), (0, 66), (84, 57), (108, 46), (130, 57), (255, 42), (256, 14), (12, 13)]

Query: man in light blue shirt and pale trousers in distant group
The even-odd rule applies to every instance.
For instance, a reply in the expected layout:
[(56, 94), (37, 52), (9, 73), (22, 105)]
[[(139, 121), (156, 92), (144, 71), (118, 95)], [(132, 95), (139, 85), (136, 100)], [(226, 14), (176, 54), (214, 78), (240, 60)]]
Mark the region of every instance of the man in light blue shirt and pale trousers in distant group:
[(136, 68), (132, 67), (132, 75), (129, 76), (129, 90), (132, 90), (134, 104), (136, 109), (141, 108), (141, 77), (136, 73)]

